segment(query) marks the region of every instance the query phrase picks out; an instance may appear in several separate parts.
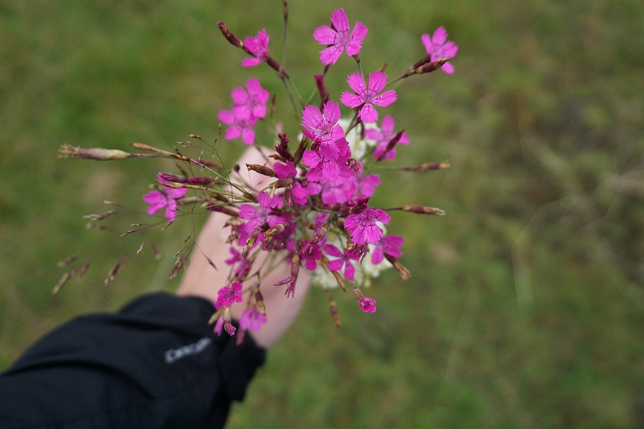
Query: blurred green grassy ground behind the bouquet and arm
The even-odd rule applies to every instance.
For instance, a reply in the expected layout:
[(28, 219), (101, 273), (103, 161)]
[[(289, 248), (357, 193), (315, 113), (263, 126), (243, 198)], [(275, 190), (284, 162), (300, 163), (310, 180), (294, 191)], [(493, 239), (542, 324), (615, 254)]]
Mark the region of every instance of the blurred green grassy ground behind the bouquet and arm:
[[(312, 31), (336, 7), (369, 28), (366, 72), (384, 62), (403, 72), (424, 55), (421, 33), (440, 25), (459, 44), (454, 75), (408, 79), (386, 109), (412, 138), (395, 165), (450, 158), (451, 168), (386, 173), (374, 198), (448, 214), (393, 216), (413, 278), (386, 272), (367, 291), (375, 314), (336, 293), (338, 330), (313, 290), (230, 426), (642, 424), (644, 3), (289, 3), (286, 66), (306, 94), (321, 72)], [(86, 230), (81, 216), (108, 209), (103, 200), (144, 211), (140, 196), (172, 164), (57, 160), (58, 146), (212, 140), (216, 112), (251, 76), (278, 95), (293, 135), (281, 82), (241, 68), (245, 55), (216, 26), (266, 28), (280, 59), (281, 13), (278, 0), (0, 3), (0, 368), (77, 314), (175, 289), (172, 256), (194, 233), (177, 222), (156, 235), (155, 261), (134, 256), (140, 237)], [(344, 56), (332, 68), (332, 97), (354, 67)], [(242, 146), (224, 142), (223, 158)], [(93, 266), (52, 297), (56, 262), (79, 252)]]

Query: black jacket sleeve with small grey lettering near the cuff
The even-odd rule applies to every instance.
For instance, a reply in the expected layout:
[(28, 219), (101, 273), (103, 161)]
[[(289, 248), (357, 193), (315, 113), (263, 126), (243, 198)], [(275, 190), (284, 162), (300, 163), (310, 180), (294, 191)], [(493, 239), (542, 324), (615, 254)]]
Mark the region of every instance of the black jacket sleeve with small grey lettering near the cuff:
[(217, 336), (212, 303), (156, 293), (82, 316), (0, 375), (0, 428), (219, 428), (265, 350)]

